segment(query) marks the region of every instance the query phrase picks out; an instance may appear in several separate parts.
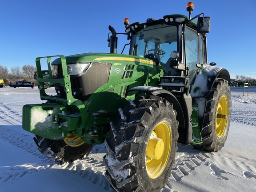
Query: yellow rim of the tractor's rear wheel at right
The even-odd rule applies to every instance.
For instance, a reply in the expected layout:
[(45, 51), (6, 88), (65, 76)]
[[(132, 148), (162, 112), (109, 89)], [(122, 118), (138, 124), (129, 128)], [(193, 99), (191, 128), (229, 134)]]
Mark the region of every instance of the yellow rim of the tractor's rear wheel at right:
[(216, 112), (216, 134), (220, 138), (223, 136), (228, 118), (228, 100), (226, 96), (220, 98)]

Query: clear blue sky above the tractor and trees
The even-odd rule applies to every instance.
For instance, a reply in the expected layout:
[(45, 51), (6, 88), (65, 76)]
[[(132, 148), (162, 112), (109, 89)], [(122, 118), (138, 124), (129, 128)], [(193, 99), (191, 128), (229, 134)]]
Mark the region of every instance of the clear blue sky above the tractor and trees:
[[(130, 23), (169, 14), (188, 16), (185, 0), (0, 0), (0, 65), (35, 65), (39, 56), (109, 52), (108, 25), (124, 32)], [(208, 62), (256, 79), (254, 0), (194, 0), (192, 17), (211, 17)], [(119, 37), (121, 52), (126, 43)], [(10, 71), (10, 70), (9, 70)]]

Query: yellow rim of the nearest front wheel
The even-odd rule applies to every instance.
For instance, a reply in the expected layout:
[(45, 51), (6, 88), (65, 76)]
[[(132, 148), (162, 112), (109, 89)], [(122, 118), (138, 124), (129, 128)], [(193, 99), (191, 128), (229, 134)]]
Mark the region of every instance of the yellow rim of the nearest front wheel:
[(156, 178), (168, 163), (172, 146), (172, 133), (167, 123), (157, 124), (148, 140), (146, 168), (148, 176)]

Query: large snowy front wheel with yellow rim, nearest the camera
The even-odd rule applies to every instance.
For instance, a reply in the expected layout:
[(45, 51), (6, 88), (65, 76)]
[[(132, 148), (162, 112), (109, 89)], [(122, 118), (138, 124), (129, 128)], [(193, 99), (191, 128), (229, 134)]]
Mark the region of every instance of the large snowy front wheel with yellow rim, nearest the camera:
[(119, 111), (105, 140), (105, 176), (117, 191), (159, 192), (175, 161), (176, 112), (167, 100), (153, 96)]

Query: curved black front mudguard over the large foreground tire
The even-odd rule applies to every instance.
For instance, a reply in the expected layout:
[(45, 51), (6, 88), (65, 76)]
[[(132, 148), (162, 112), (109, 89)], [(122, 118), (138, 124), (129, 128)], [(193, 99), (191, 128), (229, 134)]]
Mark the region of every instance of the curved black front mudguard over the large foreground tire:
[(149, 96), (159, 96), (168, 100), (173, 104), (173, 108), (176, 110), (178, 114), (177, 120), (179, 121), (179, 127), (183, 127), (183, 128), (185, 127), (184, 113), (180, 106), (180, 102), (171, 92), (164, 90), (162, 88), (151, 87), (151, 86), (138, 86), (138, 87), (131, 88), (128, 91), (140, 91), (140, 92), (146, 93)]

